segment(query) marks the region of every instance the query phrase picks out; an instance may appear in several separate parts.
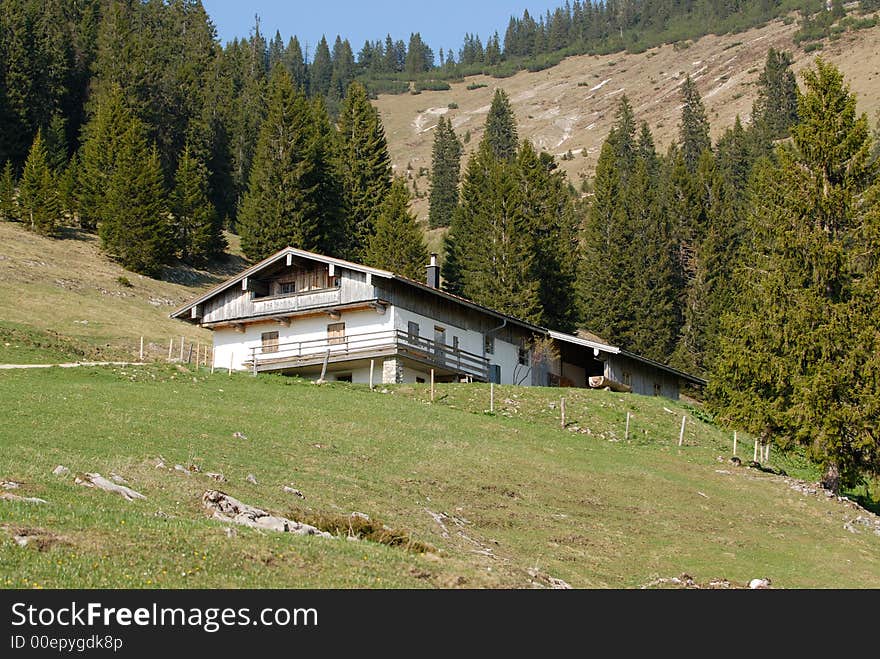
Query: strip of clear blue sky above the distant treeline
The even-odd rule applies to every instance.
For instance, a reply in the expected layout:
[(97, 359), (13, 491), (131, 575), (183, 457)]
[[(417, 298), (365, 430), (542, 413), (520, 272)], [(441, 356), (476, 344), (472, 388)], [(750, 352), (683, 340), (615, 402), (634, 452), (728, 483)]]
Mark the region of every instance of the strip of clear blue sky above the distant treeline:
[(522, 16), (525, 9), (533, 16), (543, 15), (565, 0), (202, 0), (202, 4), (222, 43), (247, 37), (257, 14), (264, 34), (272, 37), (279, 30), (285, 43), (295, 34), (303, 48), (308, 44), (310, 53), (321, 35), (327, 36), (331, 47), (337, 34), (347, 38), (357, 54), (367, 39), (384, 39), (390, 33), (395, 41), (408, 42), (411, 32), (419, 32), (435, 53), (453, 48), (457, 55), (465, 32), (480, 35), (485, 43), (497, 30), (503, 40), (511, 16)]

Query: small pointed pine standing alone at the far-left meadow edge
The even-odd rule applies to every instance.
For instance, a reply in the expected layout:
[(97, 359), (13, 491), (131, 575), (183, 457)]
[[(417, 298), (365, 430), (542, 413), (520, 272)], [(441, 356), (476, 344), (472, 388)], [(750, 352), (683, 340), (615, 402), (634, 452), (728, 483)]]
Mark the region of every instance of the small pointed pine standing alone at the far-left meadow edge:
[(22, 221), (31, 231), (51, 236), (61, 211), (55, 175), (48, 160), (42, 131), (38, 130), (19, 181), (18, 207)]

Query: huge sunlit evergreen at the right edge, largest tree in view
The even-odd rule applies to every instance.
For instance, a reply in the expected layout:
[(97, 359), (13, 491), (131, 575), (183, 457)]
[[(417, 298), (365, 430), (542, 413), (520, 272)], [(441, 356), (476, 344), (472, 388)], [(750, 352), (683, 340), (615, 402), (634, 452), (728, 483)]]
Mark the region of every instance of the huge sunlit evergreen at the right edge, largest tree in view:
[(793, 143), (755, 177), (751, 261), (709, 393), (719, 418), (805, 445), (836, 491), (880, 469), (880, 193), (867, 118), (843, 76), (817, 60), (804, 83)]

